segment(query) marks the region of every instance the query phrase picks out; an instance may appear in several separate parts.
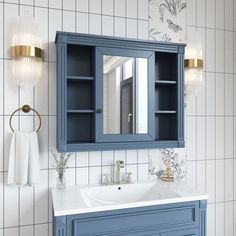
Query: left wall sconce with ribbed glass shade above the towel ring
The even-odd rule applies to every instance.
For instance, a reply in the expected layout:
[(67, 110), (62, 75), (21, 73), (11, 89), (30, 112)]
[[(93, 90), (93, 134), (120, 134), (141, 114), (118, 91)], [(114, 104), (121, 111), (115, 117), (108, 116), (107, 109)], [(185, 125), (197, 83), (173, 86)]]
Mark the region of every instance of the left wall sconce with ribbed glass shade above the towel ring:
[(20, 86), (35, 86), (42, 74), (40, 30), (32, 17), (18, 17), (12, 25), (12, 75)]

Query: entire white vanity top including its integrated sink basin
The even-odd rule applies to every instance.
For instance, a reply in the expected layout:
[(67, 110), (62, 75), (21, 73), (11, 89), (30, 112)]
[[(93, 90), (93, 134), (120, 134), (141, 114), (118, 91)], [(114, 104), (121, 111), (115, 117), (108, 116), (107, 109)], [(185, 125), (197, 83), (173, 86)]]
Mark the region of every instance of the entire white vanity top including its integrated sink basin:
[(162, 181), (51, 189), (54, 216), (125, 209), (207, 199), (185, 184)]

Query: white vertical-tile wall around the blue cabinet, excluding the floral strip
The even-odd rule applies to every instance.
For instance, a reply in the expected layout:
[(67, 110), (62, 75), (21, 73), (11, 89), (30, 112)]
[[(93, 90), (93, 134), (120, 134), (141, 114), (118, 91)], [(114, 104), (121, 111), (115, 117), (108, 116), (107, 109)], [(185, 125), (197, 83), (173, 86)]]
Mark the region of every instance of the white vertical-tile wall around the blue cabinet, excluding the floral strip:
[[(207, 190), (209, 236), (236, 234), (236, 4), (233, 0), (189, 0), (187, 38), (197, 30), (204, 45), (203, 86), (190, 95), (186, 109), (187, 182)], [(233, 12), (234, 9), (234, 12)], [(50, 149), (56, 136), (56, 30), (148, 39), (148, 0), (0, 0), (0, 236), (51, 235), (52, 210), (49, 188), (55, 186)], [(34, 89), (21, 89), (11, 81), (10, 22), (18, 15), (34, 16), (42, 29), (45, 63)], [(234, 17), (234, 20), (233, 20)], [(30, 104), (42, 115), (39, 132), (41, 184), (7, 186), (11, 131), (9, 116)], [(31, 130), (31, 116), (15, 117), (14, 127)], [(123, 150), (75, 153), (69, 162), (68, 184), (99, 182), (110, 173), (111, 163), (122, 159), (133, 180), (147, 180), (148, 158), (157, 161), (158, 150)], [(236, 173), (236, 172), (235, 172)]]

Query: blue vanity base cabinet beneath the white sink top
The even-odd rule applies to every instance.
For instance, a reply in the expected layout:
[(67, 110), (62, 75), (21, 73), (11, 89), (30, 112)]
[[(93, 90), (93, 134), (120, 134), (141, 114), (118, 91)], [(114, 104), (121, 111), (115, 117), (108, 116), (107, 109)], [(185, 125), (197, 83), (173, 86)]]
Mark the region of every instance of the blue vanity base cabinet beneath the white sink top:
[(206, 236), (207, 201), (54, 217), (54, 236)]

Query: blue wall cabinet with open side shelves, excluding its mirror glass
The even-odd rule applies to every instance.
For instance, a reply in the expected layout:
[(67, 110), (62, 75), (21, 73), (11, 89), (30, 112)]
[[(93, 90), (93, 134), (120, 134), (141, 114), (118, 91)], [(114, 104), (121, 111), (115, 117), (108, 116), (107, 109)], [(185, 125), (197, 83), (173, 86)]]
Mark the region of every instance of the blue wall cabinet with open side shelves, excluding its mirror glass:
[[(184, 44), (57, 32), (60, 152), (184, 147)], [(103, 54), (148, 60), (148, 131), (103, 134)]]

